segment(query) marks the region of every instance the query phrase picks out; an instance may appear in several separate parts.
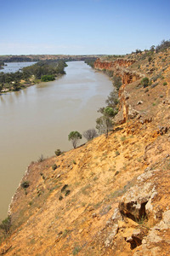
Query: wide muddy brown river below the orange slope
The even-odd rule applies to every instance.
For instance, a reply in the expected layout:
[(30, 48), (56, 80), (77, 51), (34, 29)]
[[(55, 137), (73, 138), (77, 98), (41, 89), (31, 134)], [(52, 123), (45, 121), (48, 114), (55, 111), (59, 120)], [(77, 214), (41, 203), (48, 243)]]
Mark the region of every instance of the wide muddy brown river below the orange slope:
[[(0, 96), (0, 218), (32, 160), (71, 149), (70, 131), (95, 128), (112, 83), (83, 61), (68, 62), (66, 74), (53, 82)], [(82, 141), (83, 143), (83, 141)]]

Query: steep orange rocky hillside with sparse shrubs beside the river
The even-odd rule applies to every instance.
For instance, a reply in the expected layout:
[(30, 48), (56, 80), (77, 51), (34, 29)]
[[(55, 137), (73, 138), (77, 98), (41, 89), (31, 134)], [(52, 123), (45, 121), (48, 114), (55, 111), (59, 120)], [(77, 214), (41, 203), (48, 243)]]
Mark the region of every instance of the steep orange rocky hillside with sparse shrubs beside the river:
[(28, 166), (0, 255), (170, 254), (169, 63), (170, 49), (95, 61), (122, 79), (116, 125)]

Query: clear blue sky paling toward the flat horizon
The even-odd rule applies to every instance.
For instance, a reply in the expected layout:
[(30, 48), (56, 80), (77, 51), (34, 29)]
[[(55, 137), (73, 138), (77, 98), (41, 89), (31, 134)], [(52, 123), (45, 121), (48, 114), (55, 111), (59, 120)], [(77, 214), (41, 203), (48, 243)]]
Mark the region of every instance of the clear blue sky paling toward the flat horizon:
[(0, 55), (127, 54), (170, 39), (170, 0), (0, 0)]

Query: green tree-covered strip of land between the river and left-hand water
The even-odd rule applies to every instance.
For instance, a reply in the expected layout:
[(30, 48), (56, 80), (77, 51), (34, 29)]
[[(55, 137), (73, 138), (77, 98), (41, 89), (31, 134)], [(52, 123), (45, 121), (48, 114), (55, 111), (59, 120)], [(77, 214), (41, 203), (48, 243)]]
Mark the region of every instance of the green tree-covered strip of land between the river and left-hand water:
[(30, 67), (24, 67), (15, 73), (0, 73), (1, 90), (20, 90), (38, 80), (50, 81), (58, 75), (65, 74), (65, 61), (46, 60), (38, 61)]

